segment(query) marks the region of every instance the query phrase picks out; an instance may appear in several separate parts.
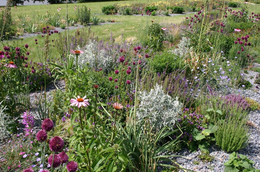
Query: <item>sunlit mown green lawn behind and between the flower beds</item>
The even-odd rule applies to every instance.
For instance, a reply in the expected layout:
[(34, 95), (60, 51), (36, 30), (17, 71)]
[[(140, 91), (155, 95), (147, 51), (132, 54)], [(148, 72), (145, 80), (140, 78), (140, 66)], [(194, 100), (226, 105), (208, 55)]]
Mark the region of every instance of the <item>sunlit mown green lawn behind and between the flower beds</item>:
[[(104, 19), (107, 21), (115, 20), (116, 24), (105, 24), (105, 25), (97, 25), (97, 26), (91, 26), (92, 32), (95, 33), (95, 36), (97, 36), (99, 39), (107, 39), (110, 37), (110, 34), (112, 32), (114, 38), (118, 38), (121, 34), (123, 34), (123, 39), (129, 40), (138, 40), (140, 34), (147, 26), (147, 23), (151, 23), (151, 20), (154, 20), (157, 23), (161, 23), (162, 25), (166, 26), (167, 24), (179, 24), (181, 21), (183, 21), (183, 18), (185, 15), (180, 16), (119, 16), (119, 15), (104, 15), (101, 12), (101, 8), (105, 5), (113, 5), (115, 3), (121, 4), (121, 3), (151, 3), (155, 0), (150, 0), (149, 2), (147, 0), (131, 0), (131, 1), (109, 1), (109, 2), (89, 2), (89, 3), (76, 3), (76, 4), (68, 4), (68, 13), (69, 17), (75, 17), (76, 11), (74, 10), (74, 6), (80, 6), (86, 5), (88, 8), (91, 9), (91, 15), (98, 15), (101, 19)], [(248, 4), (246, 4), (247, 6)], [(61, 8), (60, 12), (57, 11), (57, 8)], [(241, 8), (234, 8), (233, 10), (240, 10)], [(28, 15), (30, 19), (36, 19), (38, 15), (43, 15), (48, 13), (54, 14), (59, 13), (62, 17), (66, 15), (66, 4), (53, 4), (53, 5), (31, 5), (31, 6), (17, 6), (15, 9), (14, 7), (11, 8), (11, 14), (13, 16), (14, 20), (18, 20), (18, 15)], [(260, 12), (260, 5), (250, 5), (249, 11), (255, 11)], [(70, 30), (69, 33), (74, 34), (75, 31)], [(63, 33), (64, 34), (64, 33)], [(22, 37), (22, 36), (21, 36)], [(38, 47), (43, 47), (43, 38), (41, 38), (41, 35), (38, 35), (37, 37), (30, 37), (23, 40), (23, 43), (29, 44), (30, 52), (31, 52), (31, 58), (32, 60), (38, 61), (38, 52), (37, 47), (35, 45), (34, 39), (38, 39)], [(57, 35), (51, 35), (50, 39), (56, 39)], [(21, 41), (21, 40), (20, 40)], [(17, 42), (15, 42), (17, 44)], [(40, 49), (41, 50), (41, 49)], [(58, 56), (59, 53), (55, 51), (54, 48), (54, 56)]]

